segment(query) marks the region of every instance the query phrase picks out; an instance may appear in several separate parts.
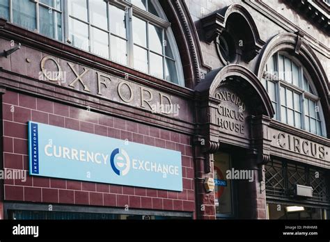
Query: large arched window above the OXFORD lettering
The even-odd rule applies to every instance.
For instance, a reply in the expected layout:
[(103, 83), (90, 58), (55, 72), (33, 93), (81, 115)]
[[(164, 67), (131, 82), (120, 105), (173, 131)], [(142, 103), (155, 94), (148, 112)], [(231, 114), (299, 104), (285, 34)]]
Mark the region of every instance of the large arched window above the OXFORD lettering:
[(35, 0), (24, 4), (1, 0), (0, 17), (184, 86), (178, 47), (158, 0)]

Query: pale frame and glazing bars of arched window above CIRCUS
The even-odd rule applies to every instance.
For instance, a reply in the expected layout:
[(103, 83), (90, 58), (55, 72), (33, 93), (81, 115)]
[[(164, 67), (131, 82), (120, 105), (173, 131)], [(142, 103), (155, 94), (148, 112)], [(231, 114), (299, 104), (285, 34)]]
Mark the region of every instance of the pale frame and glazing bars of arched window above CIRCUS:
[[(291, 76), (291, 81), (292, 83), (290, 83), (289, 81), (285, 81), (285, 73), (286, 73), (286, 70), (285, 70), (285, 60), (283, 58), (283, 67), (284, 67), (284, 70), (281, 70), (281, 71), (284, 71), (283, 73), (283, 79), (280, 78), (280, 70), (278, 70), (278, 66), (279, 66), (279, 56), (283, 56), (284, 58), (288, 58), (290, 59), (291, 63), (294, 63), (295, 65), (297, 65), (297, 67), (299, 68), (299, 85), (300, 86), (296, 86), (294, 85), (294, 81), (293, 81), (293, 78)], [(265, 87), (265, 89), (267, 90), (268, 92), (268, 82), (269, 81), (272, 81), (274, 83), (276, 83), (276, 108), (275, 109), (275, 113), (276, 113), (276, 120), (280, 121), (280, 122), (283, 122), (285, 124), (288, 124), (292, 127), (295, 127), (297, 129), (302, 129), (304, 131), (308, 131), (309, 133), (311, 134), (315, 134), (317, 136), (322, 136), (322, 137), (326, 137), (327, 136), (327, 129), (325, 127), (325, 122), (324, 122), (324, 114), (323, 114), (323, 111), (322, 111), (322, 106), (320, 104), (320, 97), (318, 97), (317, 95), (313, 94), (313, 93), (317, 93), (316, 92), (316, 88), (314, 86), (314, 83), (313, 81), (311, 81), (311, 76), (308, 74), (306, 68), (304, 67), (304, 65), (301, 64), (301, 62), (295, 58), (294, 56), (290, 56), (288, 53), (286, 53), (285, 51), (277, 51), (275, 54), (272, 55), (271, 58), (269, 58), (269, 61), (272, 59), (272, 61), (274, 61), (273, 65), (274, 65), (274, 73), (272, 72), (269, 72), (269, 70), (267, 70), (267, 67), (268, 67), (268, 63), (267, 63), (267, 66), (263, 72), (263, 75), (262, 75), (262, 79), (265, 79), (265, 81), (262, 81), (262, 85)], [(292, 64), (291, 64), (291, 69), (292, 69)], [(291, 72), (291, 71), (290, 71)], [(293, 75), (293, 72), (291, 72), (291, 75)], [(308, 92), (307, 90), (304, 90), (304, 77), (305, 79), (307, 80), (308, 82), (308, 85), (310, 86), (310, 88), (312, 89), (311, 92)], [(293, 99), (292, 99), (292, 102), (293, 102), (293, 109), (290, 108), (290, 110), (294, 110), (294, 118), (293, 118), (293, 122), (294, 124), (291, 125), (289, 124), (288, 122), (288, 106), (287, 104), (285, 104), (285, 102), (283, 102), (281, 100), (281, 88), (285, 88), (285, 99), (287, 98), (286, 97), (286, 90), (291, 90), (293, 93), (297, 93), (299, 95), (299, 104), (300, 104), (300, 112), (297, 111), (295, 108), (294, 108), (294, 94), (292, 95)], [(315, 129), (315, 133), (310, 131), (310, 126), (311, 124), (309, 124), (309, 127), (307, 129), (306, 127), (306, 121), (305, 119), (308, 117), (308, 119), (311, 119), (311, 117), (309, 115), (306, 115), (306, 110), (305, 110), (305, 99), (309, 99), (311, 100), (312, 102), (315, 102), (315, 105), (316, 106), (319, 106), (320, 109), (319, 109), (319, 118), (320, 119), (317, 119), (317, 115), (315, 116), (315, 119), (316, 122), (317, 121), (320, 121), (321, 123), (321, 134), (317, 134), (317, 127)], [(272, 100), (272, 103), (273, 100)], [(285, 104), (285, 105), (284, 105)], [(283, 121), (283, 118), (282, 118), (282, 114), (281, 114), (281, 108), (282, 106), (285, 107), (285, 112), (286, 112), (286, 117), (287, 117), (287, 122), (284, 122)], [(309, 106), (308, 106), (309, 108)], [(299, 112), (301, 113), (301, 127), (297, 127), (296, 126), (296, 122), (295, 122), (295, 113), (296, 112)]]

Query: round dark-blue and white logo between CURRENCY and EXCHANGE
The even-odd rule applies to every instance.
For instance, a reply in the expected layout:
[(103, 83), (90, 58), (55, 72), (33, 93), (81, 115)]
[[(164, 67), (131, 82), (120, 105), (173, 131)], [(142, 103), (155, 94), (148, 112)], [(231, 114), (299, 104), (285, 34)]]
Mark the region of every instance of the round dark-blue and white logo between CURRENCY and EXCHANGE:
[(127, 152), (123, 149), (115, 149), (110, 156), (112, 170), (118, 175), (125, 176), (129, 172), (131, 162)]

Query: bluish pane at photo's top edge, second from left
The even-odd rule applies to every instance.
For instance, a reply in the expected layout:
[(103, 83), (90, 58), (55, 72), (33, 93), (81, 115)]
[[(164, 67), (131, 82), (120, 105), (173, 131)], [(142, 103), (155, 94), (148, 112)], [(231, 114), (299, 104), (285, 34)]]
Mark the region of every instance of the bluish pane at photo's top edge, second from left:
[(13, 0), (13, 22), (31, 31), (37, 29), (36, 3)]

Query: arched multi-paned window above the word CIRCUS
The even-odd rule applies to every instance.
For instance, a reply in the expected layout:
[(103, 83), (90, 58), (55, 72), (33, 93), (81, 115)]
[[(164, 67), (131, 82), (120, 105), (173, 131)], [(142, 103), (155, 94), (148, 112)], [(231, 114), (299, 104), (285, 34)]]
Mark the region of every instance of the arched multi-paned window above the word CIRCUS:
[(296, 58), (285, 52), (274, 54), (267, 62), (262, 85), (272, 100), (276, 120), (326, 136), (320, 97)]

